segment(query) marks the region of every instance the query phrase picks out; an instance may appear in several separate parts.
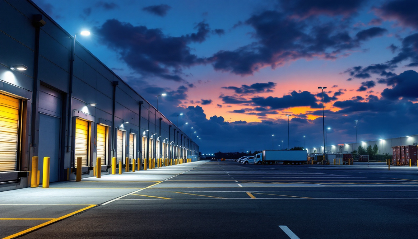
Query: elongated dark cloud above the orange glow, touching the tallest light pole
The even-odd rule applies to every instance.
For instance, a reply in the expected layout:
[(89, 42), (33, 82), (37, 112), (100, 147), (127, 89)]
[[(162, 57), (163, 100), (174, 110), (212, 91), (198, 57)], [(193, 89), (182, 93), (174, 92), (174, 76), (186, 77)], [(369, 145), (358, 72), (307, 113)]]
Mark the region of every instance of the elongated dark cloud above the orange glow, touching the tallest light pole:
[(283, 97), (254, 97), (251, 98), (253, 105), (261, 107), (269, 107), (270, 109), (285, 109), (297, 106), (310, 106), (311, 108), (319, 108), (316, 103), (315, 95), (312, 95), (308, 91), (298, 93), (293, 91), (290, 95), (284, 95)]

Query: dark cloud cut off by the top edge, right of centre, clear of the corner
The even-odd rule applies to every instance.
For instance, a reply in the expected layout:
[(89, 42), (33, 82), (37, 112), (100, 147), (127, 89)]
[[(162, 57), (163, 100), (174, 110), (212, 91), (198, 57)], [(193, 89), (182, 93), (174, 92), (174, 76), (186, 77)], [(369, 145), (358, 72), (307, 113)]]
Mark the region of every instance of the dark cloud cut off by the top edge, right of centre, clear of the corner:
[(286, 12), (301, 18), (312, 15), (344, 15), (349, 16), (356, 13), (364, 0), (292, 0), (281, 1)]

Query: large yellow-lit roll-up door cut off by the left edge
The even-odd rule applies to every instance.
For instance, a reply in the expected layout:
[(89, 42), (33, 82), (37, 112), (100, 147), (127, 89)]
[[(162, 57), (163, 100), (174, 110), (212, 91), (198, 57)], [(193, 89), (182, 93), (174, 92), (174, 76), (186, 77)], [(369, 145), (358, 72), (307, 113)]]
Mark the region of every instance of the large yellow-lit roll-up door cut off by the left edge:
[(0, 172), (16, 170), (19, 99), (0, 94)]

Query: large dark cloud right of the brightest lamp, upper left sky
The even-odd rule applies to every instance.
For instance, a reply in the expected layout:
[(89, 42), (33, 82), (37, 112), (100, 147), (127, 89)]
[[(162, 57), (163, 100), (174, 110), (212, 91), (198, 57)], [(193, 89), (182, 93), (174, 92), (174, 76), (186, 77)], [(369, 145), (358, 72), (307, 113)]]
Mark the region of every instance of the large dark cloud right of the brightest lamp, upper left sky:
[(129, 67), (143, 76), (184, 81), (181, 77), (183, 67), (204, 62), (204, 59), (191, 54), (188, 44), (204, 41), (209, 26), (201, 22), (196, 28), (197, 33), (172, 37), (166, 36), (160, 29), (110, 19), (97, 28), (96, 33), (102, 37), (101, 43), (117, 51)]

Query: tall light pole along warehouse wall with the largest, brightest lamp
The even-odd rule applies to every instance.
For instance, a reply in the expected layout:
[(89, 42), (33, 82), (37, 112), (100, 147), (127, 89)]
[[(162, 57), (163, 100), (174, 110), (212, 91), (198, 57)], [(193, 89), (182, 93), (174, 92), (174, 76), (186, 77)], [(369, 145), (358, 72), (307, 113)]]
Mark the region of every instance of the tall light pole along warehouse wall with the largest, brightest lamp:
[(73, 102), (73, 78), (74, 78), (74, 55), (76, 51), (76, 36), (89, 36), (89, 31), (82, 31), (74, 34), (73, 44), (71, 47), (71, 61), (70, 61), (70, 80), (69, 80), (69, 92), (68, 92), (68, 128), (67, 128), (67, 152), (71, 152), (71, 115), (72, 115), (72, 102)]

